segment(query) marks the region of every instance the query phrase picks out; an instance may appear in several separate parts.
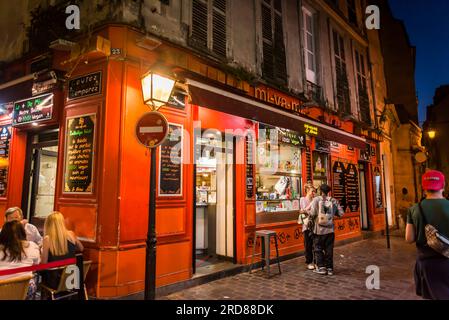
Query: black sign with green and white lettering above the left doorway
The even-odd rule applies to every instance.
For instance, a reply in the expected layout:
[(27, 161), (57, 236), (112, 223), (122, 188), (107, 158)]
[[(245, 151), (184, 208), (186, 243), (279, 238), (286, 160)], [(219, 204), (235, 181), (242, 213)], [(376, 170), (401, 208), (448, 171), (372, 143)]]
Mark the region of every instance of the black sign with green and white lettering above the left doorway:
[(50, 120), (53, 114), (53, 94), (44, 94), (14, 103), (13, 126)]

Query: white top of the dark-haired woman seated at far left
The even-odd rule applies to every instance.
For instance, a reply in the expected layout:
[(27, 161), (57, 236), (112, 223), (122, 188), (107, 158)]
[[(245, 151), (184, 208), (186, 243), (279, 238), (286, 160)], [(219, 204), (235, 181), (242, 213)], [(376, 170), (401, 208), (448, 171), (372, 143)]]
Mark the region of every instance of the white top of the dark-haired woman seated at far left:
[[(22, 268), (22, 267), (29, 267), (35, 264), (39, 264), (41, 262), (41, 252), (39, 250), (39, 246), (32, 242), (32, 241), (23, 241), (25, 254), (22, 254), (22, 260), (21, 261), (9, 261), (8, 256), (5, 260), (3, 248), (0, 246), (0, 270), (8, 270), (8, 269), (15, 269), (15, 268)], [(6, 252), (8, 254), (8, 252)], [(6, 276), (0, 276), (1, 279), (8, 279), (8, 278), (15, 278), (15, 277), (21, 277), (26, 275), (31, 275), (32, 272), (21, 272), (17, 274), (11, 274)]]

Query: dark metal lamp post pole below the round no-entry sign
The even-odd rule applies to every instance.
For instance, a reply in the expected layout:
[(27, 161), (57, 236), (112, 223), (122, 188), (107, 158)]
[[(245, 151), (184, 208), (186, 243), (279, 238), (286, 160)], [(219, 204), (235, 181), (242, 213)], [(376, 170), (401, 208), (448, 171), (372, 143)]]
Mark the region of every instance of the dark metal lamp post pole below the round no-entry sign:
[(145, 300), (156, 298), (156, 150), (151, 153), (150, 164), (150, 203), (148, 215), (147, 250), (145, 261)]

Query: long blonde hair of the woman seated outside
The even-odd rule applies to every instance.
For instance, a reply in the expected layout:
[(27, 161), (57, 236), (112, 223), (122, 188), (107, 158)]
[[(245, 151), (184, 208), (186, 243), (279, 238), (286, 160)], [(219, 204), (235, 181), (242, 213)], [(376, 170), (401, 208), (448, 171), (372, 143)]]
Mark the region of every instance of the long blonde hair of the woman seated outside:
[(49, 238), (49, 250), (51, 254), (54, 256), (63, 256), (69, 252), (67, 246), (69, 232), (65, 226), (64, 216), (61, 212), (54, 211), (45, 219), (44, 235)]

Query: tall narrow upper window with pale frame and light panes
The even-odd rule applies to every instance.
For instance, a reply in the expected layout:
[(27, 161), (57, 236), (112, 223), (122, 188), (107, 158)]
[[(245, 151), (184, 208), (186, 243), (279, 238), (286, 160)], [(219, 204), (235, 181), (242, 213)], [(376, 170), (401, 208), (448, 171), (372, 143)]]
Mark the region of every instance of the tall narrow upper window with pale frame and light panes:
[(312, 11), (305, 7), (302, 8), (302, 17), (306, 78), (307, 81), (317, 84), (315, 17)]

